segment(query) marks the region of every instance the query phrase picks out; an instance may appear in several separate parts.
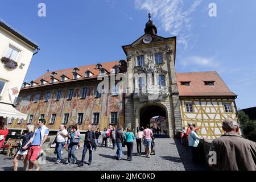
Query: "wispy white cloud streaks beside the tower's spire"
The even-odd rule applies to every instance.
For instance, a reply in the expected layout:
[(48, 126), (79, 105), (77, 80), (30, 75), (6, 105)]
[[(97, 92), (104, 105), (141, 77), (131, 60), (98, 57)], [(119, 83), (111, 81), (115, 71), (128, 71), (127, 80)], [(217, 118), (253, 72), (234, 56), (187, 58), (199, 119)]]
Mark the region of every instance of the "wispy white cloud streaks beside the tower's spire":
[[(188, 1), (187, 1), (188, 2)], [(186, 10), (183, 0), (135, 0), (139, 10), (150, 11), (153, 18), (160, 21), (160, 26), (172, 36), (179, 36), (178, 44), (188, 46), (192, 21), (189, 16), (199, 6), (201, 0), (196, 0)]]

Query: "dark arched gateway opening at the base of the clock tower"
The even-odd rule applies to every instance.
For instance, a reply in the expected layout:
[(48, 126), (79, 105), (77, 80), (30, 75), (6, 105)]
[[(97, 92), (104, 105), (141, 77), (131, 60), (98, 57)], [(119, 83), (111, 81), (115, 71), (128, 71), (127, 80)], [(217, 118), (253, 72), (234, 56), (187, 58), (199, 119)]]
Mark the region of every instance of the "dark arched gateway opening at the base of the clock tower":
[(136, 114), (135, 114), (135, 125), (134, 126), (140, 126), (144, 127), (146, 125), (150, 125), (150, 120), (153, 117), (160, 117), (164, 118), (164, 122), (166, 122), (166, 129), (168, 130), (170, 125), (168, 121), (168, 110), (166, 109), (166, 106), (159, 104), (159, 103), (152, 103), (152, 104), (143, 104), (137, 107)]

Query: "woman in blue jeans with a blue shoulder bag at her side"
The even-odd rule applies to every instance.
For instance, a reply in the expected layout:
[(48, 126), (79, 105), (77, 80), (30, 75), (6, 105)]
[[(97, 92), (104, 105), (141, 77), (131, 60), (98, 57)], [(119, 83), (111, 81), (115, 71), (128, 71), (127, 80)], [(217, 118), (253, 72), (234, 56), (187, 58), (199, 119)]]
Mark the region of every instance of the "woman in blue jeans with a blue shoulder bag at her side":
[(73, 163), (76, 163), (76, 155), (75, 155), (75, 151), (76, 151), (76, 147), (77, 144), (80, 143), (80, 139), (81, 139), (81, 134), (79, 131), (77, 131), (77, 126), (72, 126), (72, 131), (73, 133), (70, 135), (68, 135), (68, 137), (71, 139), (69, 146), (68, 146), (68, 164), (67, 166), (71, 165), (71, 158), (73, 158)]

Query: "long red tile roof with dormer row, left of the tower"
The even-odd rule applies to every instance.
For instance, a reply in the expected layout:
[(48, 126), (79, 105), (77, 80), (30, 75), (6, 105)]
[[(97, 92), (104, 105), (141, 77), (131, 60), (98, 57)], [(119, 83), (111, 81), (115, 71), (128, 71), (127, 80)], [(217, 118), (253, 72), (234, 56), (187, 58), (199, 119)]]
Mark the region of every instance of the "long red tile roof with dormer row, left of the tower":
[[(107, 63), (101, 63), (102, 68), (106, 69), (106, 71), (110, 72), (111, 69), (115, 66), (115, 65), (119, 65), (119, 61), (111, 61), (111, 62), (107, 62)], [(79, 71), (77, 71), (77, 73), (81, 76), (80, 78), (77, 78), (77, 80), (72, 80), (73, 78), (73, 68), (67, 68), (67, 69), (61, 69), (58, 71), (54, 71), (55, 73), (57, 73), (57, 75), (55, 75), (55, 78), (57, 80), (61, 80), (61, 76), (65, 75), (66, 77), (68, 77), (69, 79), (64, 81), (64, 82), (71, 82), (71, 81), (77, 81), (77, 80), (86, 80), (86, 79), (91, 79), (91, 78), (97, 78), (97, 76), (100, 74), (100, 69), (95, 69), (96, 68), (96, 64), (92, 64), (92, 65), (84, 65), (81, 67), (77, 67), (79, 68)], [(119, 66), (119, 69), (121, 70), (121, 72), (125, 72), (126, 71), (126, 65), (121, 65)], [(85, 72), (86, 71), (90, 71), (92, 72), (93, 76), (85, 78)], [(45, 73), (43, 76), (40, 76), (39, 78), (37, 78), (36, 80), (33, 80), (36, 83), (39, 83), (41, 79), (46, 80), (48, 82), (51, 81), (51, 76), (52, 76), (52, 72), (53, 71), (49, 71), (47, 73)], [(44, 84), (44, 85), (35, 85), (32, 88), (35, 87), (42, 87), (42, 86), (46, 86), (46, 85), (54, 85), (54, 84), (60, 84), (60, 81), (57, 81), (55, 83), (52, 84)], [(23, 88), (23, 89), (29, 89), (31, 87), (27, 87), (27, 88)]]

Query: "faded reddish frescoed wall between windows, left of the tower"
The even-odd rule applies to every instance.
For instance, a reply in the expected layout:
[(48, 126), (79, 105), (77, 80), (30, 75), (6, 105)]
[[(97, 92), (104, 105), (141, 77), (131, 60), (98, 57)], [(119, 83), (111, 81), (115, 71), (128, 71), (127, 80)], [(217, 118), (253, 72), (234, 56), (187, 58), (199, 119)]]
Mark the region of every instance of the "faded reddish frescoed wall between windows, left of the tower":
[[(88, 93), (86, 98), (80, 99), (81, 88), (84, 86), (88, 87)], [(18, 105), (17, 109), (22, 113), (26, 113), (28, 115), (33, 114), (33, 125), (36, 125), (36, 122), (38, 121), (40, 114), (45, 114), (44, 119), (46, 119), (47, 123), (49, 123), (49, 120), (51, 119), (51, 114), (57, 114), (55, 123), (53, 125), (47, 124), (47, 127), (49, 127), (49, 129), (51, 130), (59, 129), (59, 125), (63, 121), (64, 113), (69, 113), (69, 120), (67, 126), (75, 125), (77, 121), (77, 114), (84, 113), (80, 130), (87, 130), (87, 126), (90, 123), (92, 123), (94, 112), (99, 112), (100, 116), (104, 116), (107, 118), (105, 118), (105, 120), (100, 118), (100, 123), (98, 125), (93, 125), (93, 129), (97, 129), (97, 127), (103, 126), (101, 122), (106, 121), (106, 119), (107, 121), (109, 121), (110, 118), (108, 117), (110, 117), (111, 111), (119, 112), (119, 117), (122, 117), (123, 119), (124, 107), (122, 97), (125, 96), (124, 94), (119, 93), (118, 96), (111, 96), (111, 94), (108, 93), (102, 94), (102, 97), (100, 98), (96, 98), (96, 85), (81, 85), (81, 88), (77, 86), (73, 88), (74, 94), (72, 100), (67, 100), (67, 92), (71, 88), (58, 89), (62, 90), (60, 101), (55, 101), (56, 89), (45, 90), (43, 93), (41, 93), (40, 100), (38, 101), (38, 103), (34, 103), (34, 97), (36, 96), (38, 91), (30, 91), (29, 89), (22, 90), (20, 94), (23, 95), (24, 100), (26, 100), (25, 96), (27, 96), (27, 94), (31, 94), (31, 101), (27, 105), (22, 105), (21, 102), (20, 105)], [(52, 96), (48, 100), (48, 102), (44, 102), (44, 96), (49, 91), (51, 91)], [(15, 123), (13, 123), (11, 127), (26, 127), (27, 121), (23, 121), (21, 125), (18, 125), (17, 122), (18, 119), (16, 119)], [(123, 123), (123, 121), (119, 122)], [(103, 130), (103, 128), (101, 130)]]

